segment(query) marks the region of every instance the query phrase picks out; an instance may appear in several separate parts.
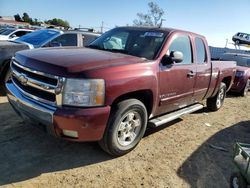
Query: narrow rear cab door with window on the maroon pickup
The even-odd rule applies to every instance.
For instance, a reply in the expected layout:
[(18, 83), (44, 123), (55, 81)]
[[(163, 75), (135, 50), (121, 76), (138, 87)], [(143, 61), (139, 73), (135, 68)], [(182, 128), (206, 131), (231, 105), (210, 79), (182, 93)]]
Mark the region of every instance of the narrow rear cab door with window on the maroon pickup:
[(195, 37), (195, 51), (196, 51), (196, 80), (194, 86), (194, 99), (201, 101), (207, 91), (211, 78), (211, 64), (208, 60), (207, 50), (205, 48), (202, 38)]

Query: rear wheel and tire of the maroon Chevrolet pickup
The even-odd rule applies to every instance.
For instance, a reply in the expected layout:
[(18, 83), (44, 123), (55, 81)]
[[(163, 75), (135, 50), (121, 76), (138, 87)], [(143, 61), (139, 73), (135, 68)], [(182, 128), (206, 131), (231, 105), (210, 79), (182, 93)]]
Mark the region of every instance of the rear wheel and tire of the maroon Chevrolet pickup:
[(214, 97), (207, 99), (207, 107), (210, 110), (217, 111), (222, 107), (224, 103), (224, 99), (226, 97), (226, 90), (227, 90), (227, 86), (225, 83), (222, 82), (220, 84), (220, 88), (217, 94)]

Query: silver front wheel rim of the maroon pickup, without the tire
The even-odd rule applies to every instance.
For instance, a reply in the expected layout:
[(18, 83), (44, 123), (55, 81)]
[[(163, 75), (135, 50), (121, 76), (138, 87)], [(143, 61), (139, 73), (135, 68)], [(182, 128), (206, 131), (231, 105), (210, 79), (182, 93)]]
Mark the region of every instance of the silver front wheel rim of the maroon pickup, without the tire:
[(138, 137), (142, 127), (142, 119), (138, 112), (129, 111), (120, 121), (117, 140), (121, 146), (128, 146)]

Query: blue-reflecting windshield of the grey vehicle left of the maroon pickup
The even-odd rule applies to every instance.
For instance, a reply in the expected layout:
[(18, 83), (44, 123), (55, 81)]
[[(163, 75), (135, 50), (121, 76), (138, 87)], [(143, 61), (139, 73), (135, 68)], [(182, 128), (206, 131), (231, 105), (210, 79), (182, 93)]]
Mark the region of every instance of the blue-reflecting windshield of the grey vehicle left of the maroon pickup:
[(35, 48), (40, 47), (45, 42), (55, 38), (56, 36), (60, 35), (60, 31), (57, 30), (49, 30), (49, 29), (42, 29), (39, 31), (35, 31), (24, 35), (18, 39), (17, 42), (26, 42), (32, 44)]

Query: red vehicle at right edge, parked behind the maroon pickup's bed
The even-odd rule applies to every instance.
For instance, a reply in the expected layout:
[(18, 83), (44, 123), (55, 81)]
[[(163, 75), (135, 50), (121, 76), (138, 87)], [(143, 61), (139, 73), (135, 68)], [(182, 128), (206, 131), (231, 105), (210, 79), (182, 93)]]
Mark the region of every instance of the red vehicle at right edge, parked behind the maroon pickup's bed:
[(250, 89), (250, 55), (225, 53), (221, 59), (237, 62), (234, 84), (230, 91), (246, 96)]

